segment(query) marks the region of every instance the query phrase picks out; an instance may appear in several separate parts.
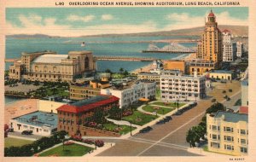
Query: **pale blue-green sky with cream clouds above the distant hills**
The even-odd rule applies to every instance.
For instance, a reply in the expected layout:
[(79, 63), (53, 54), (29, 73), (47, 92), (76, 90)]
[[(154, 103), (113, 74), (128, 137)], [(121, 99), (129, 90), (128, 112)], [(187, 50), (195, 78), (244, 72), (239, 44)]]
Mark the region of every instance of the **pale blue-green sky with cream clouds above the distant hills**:
[[(211, 8), (6, 9), (9, 34), (60, 36), (168, 31), (203, 26)], [(212, 8), (218, 24), (247, 25), (248, 8)], [(67, 34), (68, 33), (68, 34)]]

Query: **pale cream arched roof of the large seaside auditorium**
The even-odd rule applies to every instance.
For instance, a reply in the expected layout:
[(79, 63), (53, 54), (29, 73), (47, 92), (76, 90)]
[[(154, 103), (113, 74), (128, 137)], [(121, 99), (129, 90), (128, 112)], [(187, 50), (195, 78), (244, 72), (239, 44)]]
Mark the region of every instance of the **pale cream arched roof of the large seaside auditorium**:
[(68, 55), (40, 55), (33, 63), (57, 63), (60, 64), (63, 59), (67, 59)]

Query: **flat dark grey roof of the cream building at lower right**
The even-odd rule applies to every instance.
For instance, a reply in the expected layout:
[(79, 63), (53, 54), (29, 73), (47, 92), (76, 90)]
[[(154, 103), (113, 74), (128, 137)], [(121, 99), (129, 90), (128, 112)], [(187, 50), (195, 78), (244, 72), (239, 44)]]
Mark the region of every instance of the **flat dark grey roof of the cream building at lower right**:
[(218, 111), (214, 118), (221, 118), (224, 115), (224, 120), (227, 122), (237, 123), (239, 121), (245, 121), (248, 123), (248, 115), (245, 113), (230, 113)]

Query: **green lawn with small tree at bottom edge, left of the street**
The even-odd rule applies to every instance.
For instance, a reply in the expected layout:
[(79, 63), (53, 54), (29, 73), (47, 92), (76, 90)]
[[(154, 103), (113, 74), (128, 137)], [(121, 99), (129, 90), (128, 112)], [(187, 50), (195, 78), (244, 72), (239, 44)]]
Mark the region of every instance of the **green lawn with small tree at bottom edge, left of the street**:
[(40, 153), (39, 156), (51, 156), (51, 155), (55, 155), (55, 156), (82, 156), (85, 153), (88, 153), (90, 150), (92, 150), (93, 148), (89, 148), (89, 147), (85, 147), (79, 144), (72, 144), (72, 145), (67, 145), (63, 147), (58, 146), (56, 148), (52, 148), (44, 153)]

